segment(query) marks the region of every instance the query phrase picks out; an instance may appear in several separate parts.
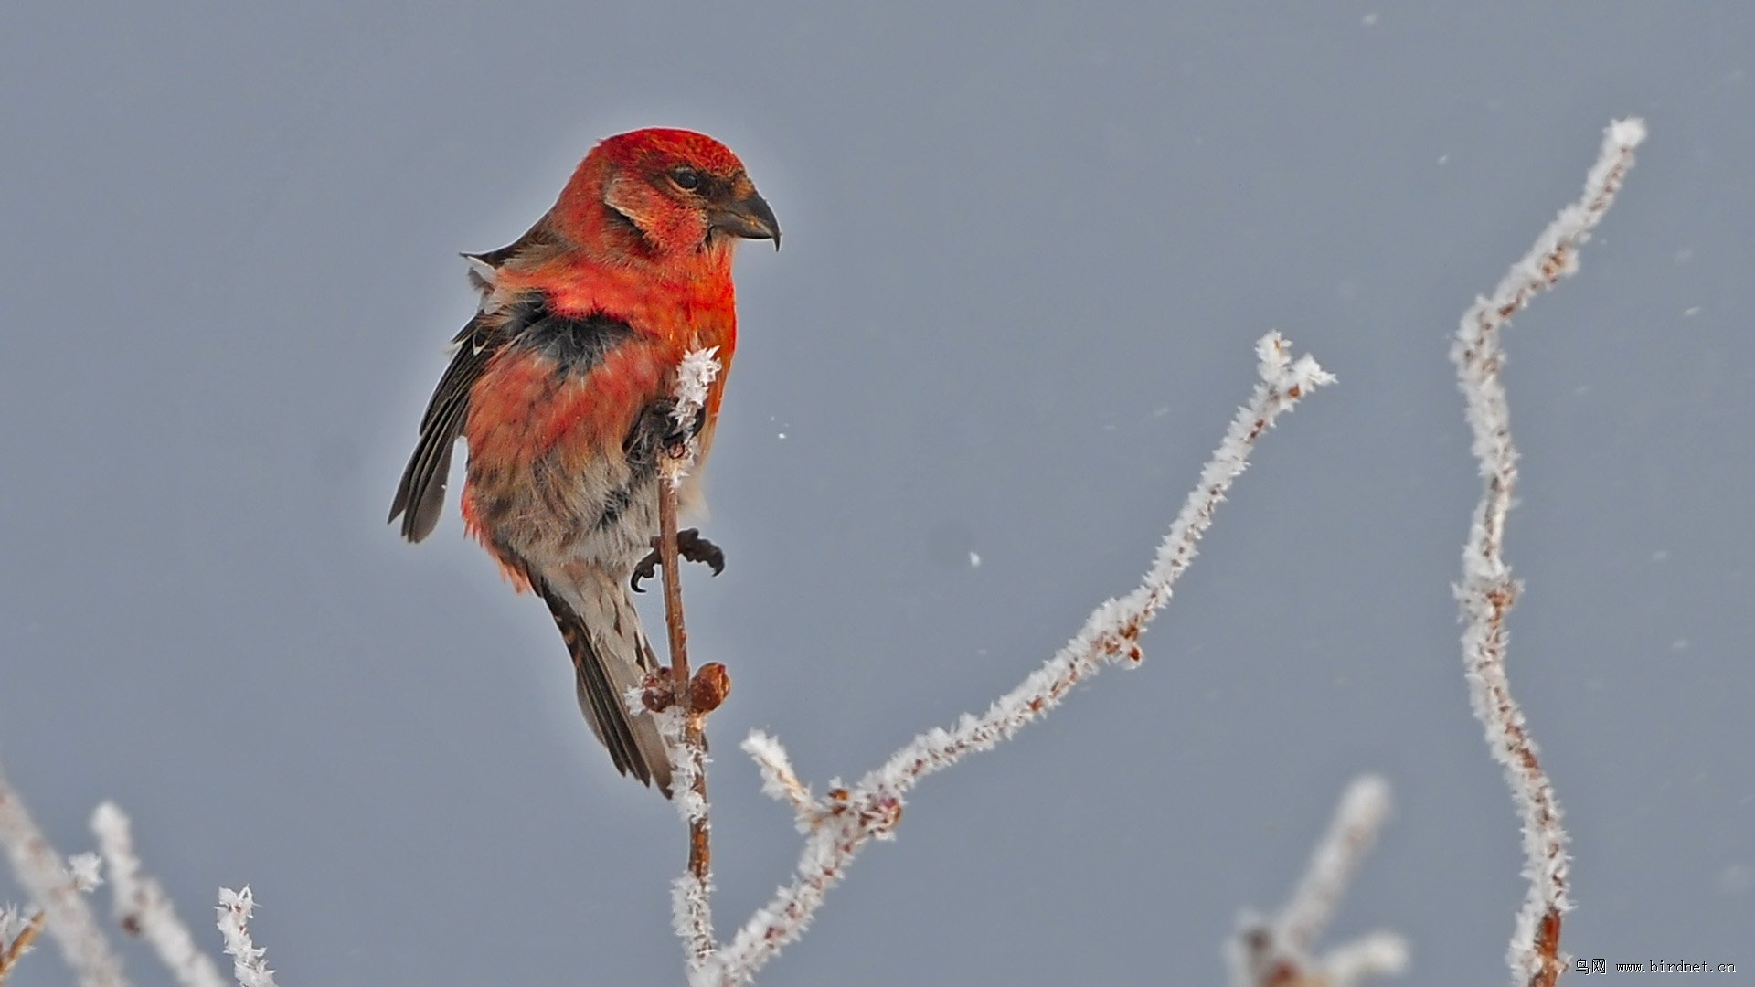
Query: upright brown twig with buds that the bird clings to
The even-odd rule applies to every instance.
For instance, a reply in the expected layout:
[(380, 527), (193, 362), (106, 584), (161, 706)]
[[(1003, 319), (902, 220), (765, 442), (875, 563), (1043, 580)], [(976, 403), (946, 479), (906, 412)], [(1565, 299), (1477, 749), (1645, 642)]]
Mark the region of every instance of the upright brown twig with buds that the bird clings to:
[(670, 418), (688, 441), (681, 450), (662, 457), (658, 467), (658, 555), (663, 566), (665, 629), (670, 641), (670, 704), (660, 710), (656, 718), (670, 757), (676, 808), (688, 824), (688, 869), (672, 887), (670, 910), (690, 975), (698, 971), (716, 948), (706, 720), (707, 713), (725, 699), (730, 681), (725, 678), (725, 667), (718, 664), (702, 667), (695, 678), (688, 671), (688, 630), (683, 623), (683, 573), (677, 550), (677, 486), (700, 455), (695, 423), (706, 414), (711, 386), (718, 376), (718, 346), (693, 349), (683, 357)]

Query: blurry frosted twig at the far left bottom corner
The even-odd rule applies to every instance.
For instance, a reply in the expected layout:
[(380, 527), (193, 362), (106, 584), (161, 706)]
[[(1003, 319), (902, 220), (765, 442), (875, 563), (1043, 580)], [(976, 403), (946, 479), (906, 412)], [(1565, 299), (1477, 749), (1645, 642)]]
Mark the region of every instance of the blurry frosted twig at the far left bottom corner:
[(91, 915), (91, 906), (79, 894), (82, 875), (68, 869), (49, 839), (37, 829), (25, 803), (7, 783), (4, 771), (0, 771), (0, 843), (5, 845), (19, 883), (42, 908), (49, 936), (61, 947), (61, 957), (74, 969), (79, 983), (82, 987), (128, 983), (121, 973), (121, 961)]

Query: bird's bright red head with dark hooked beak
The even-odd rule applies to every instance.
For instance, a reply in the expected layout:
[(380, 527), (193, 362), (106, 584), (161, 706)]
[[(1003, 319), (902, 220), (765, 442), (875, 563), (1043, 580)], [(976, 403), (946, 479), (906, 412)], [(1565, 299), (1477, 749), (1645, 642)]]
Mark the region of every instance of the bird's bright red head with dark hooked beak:
[(779, 221), (744, 163), (693, 130), (653, 126), (609, 137), (579, 162), (555, 204), (558, 232), (586, 249), (690, 265), (730, 255), (735, 237), (770, 239)]

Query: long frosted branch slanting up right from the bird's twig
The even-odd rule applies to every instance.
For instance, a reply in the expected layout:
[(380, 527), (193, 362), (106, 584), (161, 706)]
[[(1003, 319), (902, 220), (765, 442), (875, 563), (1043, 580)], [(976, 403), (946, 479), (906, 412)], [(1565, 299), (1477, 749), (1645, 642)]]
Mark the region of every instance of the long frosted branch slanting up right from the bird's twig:
[[(748, 983), (783, 947), (809, 926), (823, 896), (846, 875), (853, 857), (872, 839), (886, 839), (902, 818), (904, 796), (927, 774), (949, 767), (963, 757), (990, 750), (1035, 720), (1085, 678), (1106, 664), (1139, 662), (1139, 636), (1146, 623), (1171, 599), (1176, 580), (1195, 557), (1200, 536), (1213, 523), (1232, 481), (1243, 472), (1250, 450), (1274, 420), (1306, 392), (1332, 381), (1316, 360), (1292, 358), (1286, 341), (1269, 334), (1257, 342), (1260, 385), (1225, 432), (1223, 443), (1200, 472), (1200, 483), (1188, 495), (1144, 581), (1121, 599), (1100, 604), (1085, 627), (1021, 685), (995, 701), (986, 713), (965, 713), (949, 729), (934, 729), (914, 738), (883, 766), (851, 789), (834, 789), (823, 813), (806, 836), (792, 883), (744, 924), (737, 936), (720, 948), (693, 983), (734, 987)], [(746, 750), (751, 743), (746, 741)], [(784, 752), (772, 738), (753, 741), (758, 762), (784, 764)], [(763, 767), (767, 767), (767, 764)], [(767, 785), (767, 782), (765, 782)], [(784, 789), (784, 782), (779, 783)], [(797, 810), (797, 806), (795, 806)]]

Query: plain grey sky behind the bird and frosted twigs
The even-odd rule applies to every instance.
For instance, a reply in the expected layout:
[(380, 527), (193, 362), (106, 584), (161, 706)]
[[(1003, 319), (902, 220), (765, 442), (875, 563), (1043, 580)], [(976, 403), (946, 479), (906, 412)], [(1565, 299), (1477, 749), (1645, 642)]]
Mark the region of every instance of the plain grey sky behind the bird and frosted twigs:
[[(985, 706), (1134, 585), (1253, 339), (1341, 378), (1146, 666), (920, 789), (763, 983), (1218, 982), (1362, 771), (1397, 811), (1332, 940), (1499, 983), (1522, 857), (1458, 659), (1446, 349), (1639, 114), (1583, 272), (1509, 337), (1511, 674), (1574, 839), (1567, 950), (1748, 976), (1751, 51), (1730, 2), (7, 5), (7, 771), (68, 852), (119, 801), (216, 950), (214, 889), (253, 885), (286, 983), (677, 982), (670, 806), (455, 506), (414, 548), (383, 516), (470, 313), (456, 251), (598, 137), (693, 126), (786, 230), (739, 260), (730, 566), (688, 587), (735, 678), (725, 927), (799, 847), (737, 739), (821, 787)], [(47, 950), (16, 976), (67, 982)]]

